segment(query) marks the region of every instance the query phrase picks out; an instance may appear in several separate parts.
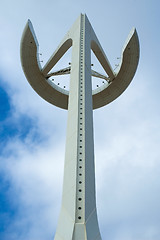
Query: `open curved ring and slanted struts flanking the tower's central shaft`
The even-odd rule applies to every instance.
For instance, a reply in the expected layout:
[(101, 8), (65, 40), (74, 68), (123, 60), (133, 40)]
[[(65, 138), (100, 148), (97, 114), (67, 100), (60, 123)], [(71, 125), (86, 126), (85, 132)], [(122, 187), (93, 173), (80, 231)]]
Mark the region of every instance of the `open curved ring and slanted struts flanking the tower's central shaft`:
[(119, 71), (115, 74), (87, 16), (85, 14), (81, 14), (71, 29), (67, 32), (51, 58), (48, 60), (45, 66), (41, 68), (37, 54), (38, 41), (32, 23), (30, 20), (28, 20), (21, 40), (21, 63), (24, 73), (33, 89), (42, 98), (49, 103), (63, 109), (68, 109), (69, 91), (54, 84), (52, 81), (50, 81), (49, 77), (72, 73), (73, 62), (71, 67), (66, 68), (65, 71), (62, 69), (59, 71), (59, 73), (54, 72), (52, 74), (49, 74), (49, 71), (55, 66), (55, 64), (67, 52), (67, 50), (70, 47), (73, 47), (75, 44), (75, 33), (76, 29), (78, 29), (81, 24), (82, 16), (85, 19), (85, 24), (87, 27), (85, 37), (87, 37), (90, 43), (90, 49), (94, 52), (98, 61), (108, 75), (103, 76), (95, 71), (91, 71), (91, 75), (104, 78), (106, 80), (105, 84), (92, 91), (93, 109), (97, 109), (109, 104), (125, 91), (132, 81), (139, 61), (139, 41), (136, 29), (133, 28), (129, 33), (126, 43), (122, 49)]

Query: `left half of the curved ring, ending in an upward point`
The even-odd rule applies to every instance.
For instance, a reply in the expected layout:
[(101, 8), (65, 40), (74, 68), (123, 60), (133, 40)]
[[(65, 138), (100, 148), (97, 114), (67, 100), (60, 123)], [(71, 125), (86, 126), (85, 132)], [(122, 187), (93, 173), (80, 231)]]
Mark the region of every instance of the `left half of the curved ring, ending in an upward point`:
[[(63, 55), (67, 51), (68, 41), (58, 48)], [(61, 89), (54, 83), (49, 83), (41, 71), (41, 66), (37, 58), (38, 41), (30, 20), (28, 20), (21, 39), (21, 64), (25, 76), (33, 89), (49, 103), (68, 109), (68, 91)]]

